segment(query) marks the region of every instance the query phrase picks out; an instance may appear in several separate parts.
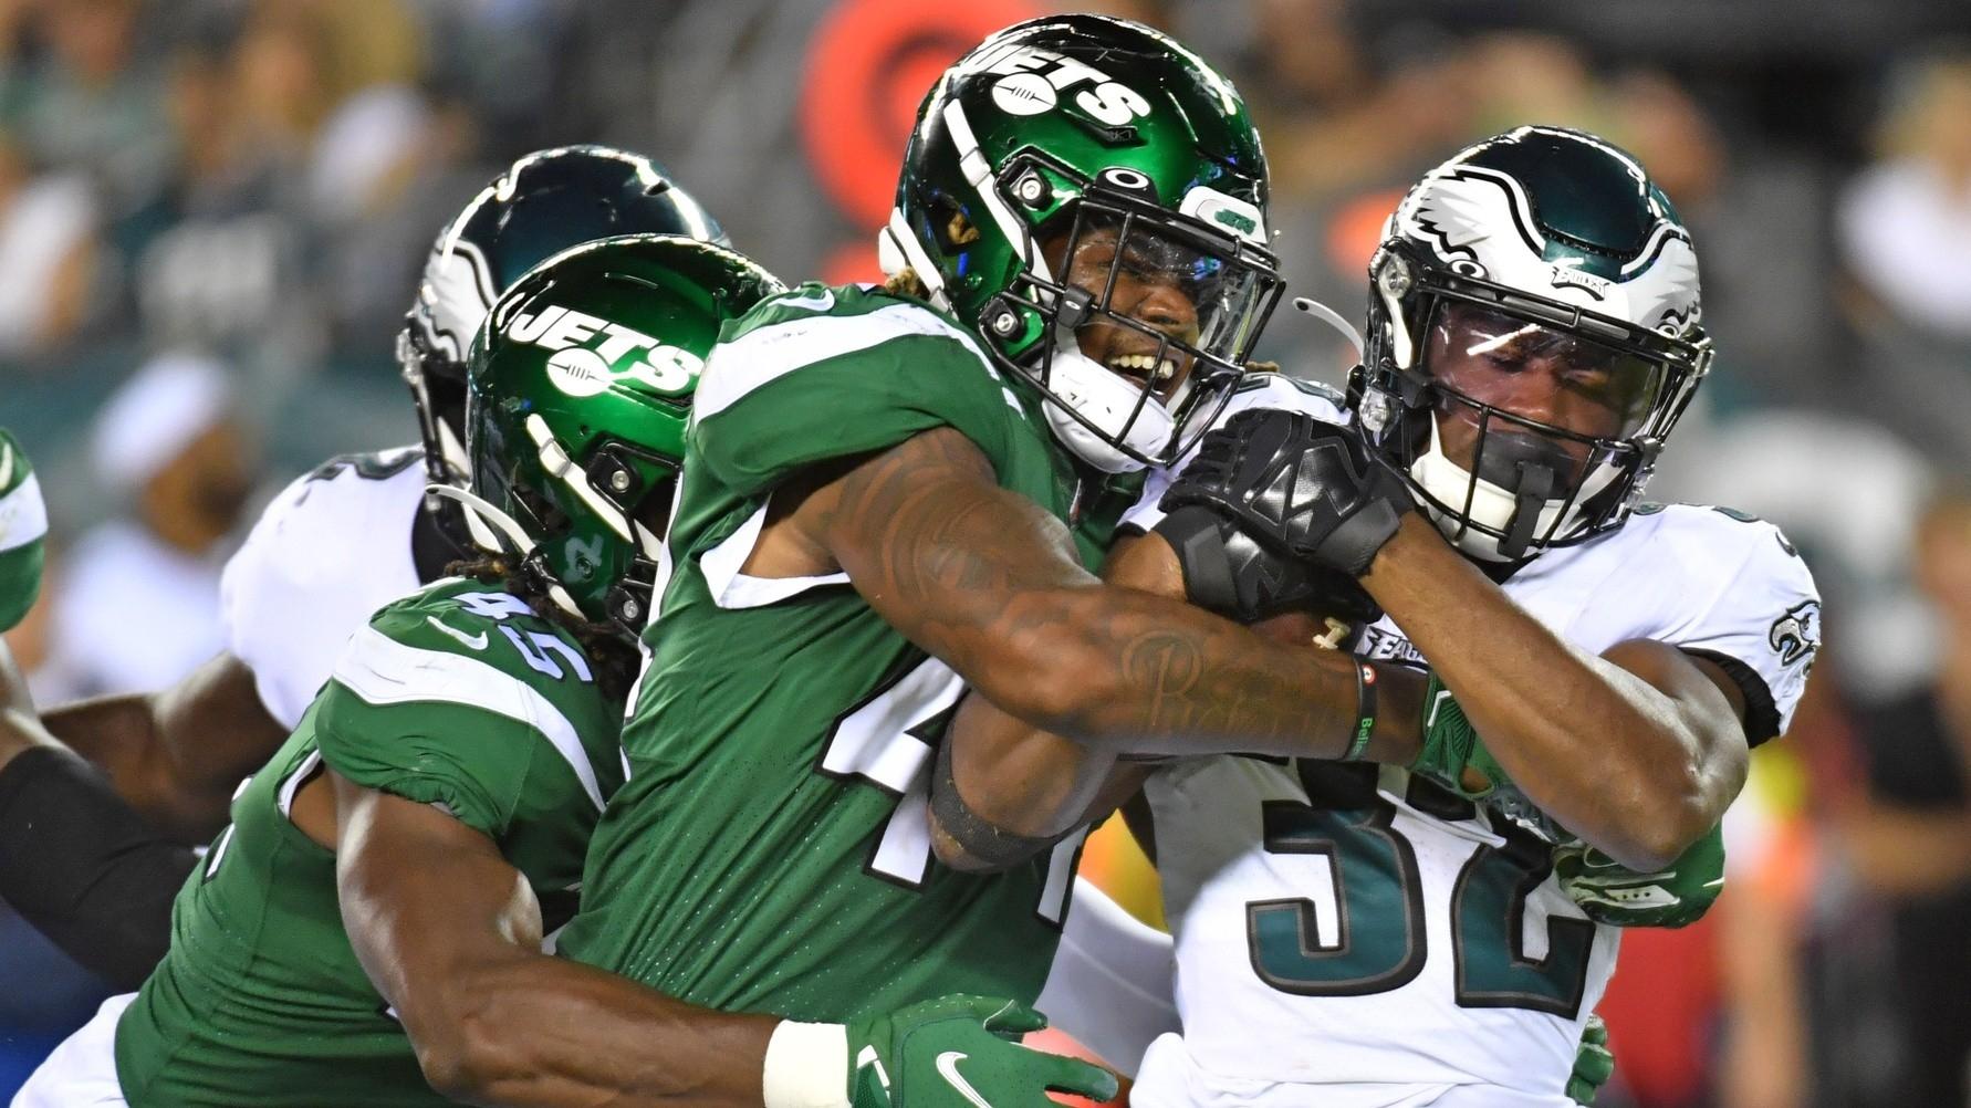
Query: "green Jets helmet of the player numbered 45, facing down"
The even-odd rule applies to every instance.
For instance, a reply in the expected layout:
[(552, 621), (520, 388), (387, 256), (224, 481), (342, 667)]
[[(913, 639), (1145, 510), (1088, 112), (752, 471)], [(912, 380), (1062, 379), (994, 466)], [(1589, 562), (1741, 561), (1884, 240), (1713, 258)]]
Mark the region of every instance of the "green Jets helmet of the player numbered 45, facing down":
[(570, 615), (635, 637), (664, 558), (692, 392), (719, 325), (784, 286), (723, 246), (623, 235), (564, 250), (499, 298), (465, 375), (475, 544)]

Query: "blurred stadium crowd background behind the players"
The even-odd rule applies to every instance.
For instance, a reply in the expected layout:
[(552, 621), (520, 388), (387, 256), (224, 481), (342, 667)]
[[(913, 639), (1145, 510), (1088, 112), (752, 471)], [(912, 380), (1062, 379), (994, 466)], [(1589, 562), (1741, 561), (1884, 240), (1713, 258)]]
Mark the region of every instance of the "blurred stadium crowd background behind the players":
[[(1721, 357), (1654, 493), (1782, 522), (1835, 647), (1733, 812), (1721, 909), (1628, 938), (1602, 1102), (1904, 1104), (1926, 1073), (1961, 1080), (1971, 49), (1955, 35), (1971, 8), (1094, 8), (1236, 79), (1291, 292), (1350, 315), (1395, 189), (1464, 140), (1587, 126), (1669, 189)], [(0, 422), (41, 469), (57, 546), (10, 645), (41, 702), (201, 660), (225, 524), (331, 453), (414, 440), (390, 341), (432, 235), (503, 162), (627, 146), (784, 278), (867, 278), (918, 97), (986, 32), (1045, 10), (0, 0)], [(1344, 365), (1291, 313), (1265, 355), (1326, 381)], [(170, 524), (193, 517), (213, 522)], [(1957, 692), (1912, 716), (1932, 688)], [(1155, 917), (1123, 836), (1098, 836), (1086, 867)], [(91, 992), (0, 923), (0, 1094)]]

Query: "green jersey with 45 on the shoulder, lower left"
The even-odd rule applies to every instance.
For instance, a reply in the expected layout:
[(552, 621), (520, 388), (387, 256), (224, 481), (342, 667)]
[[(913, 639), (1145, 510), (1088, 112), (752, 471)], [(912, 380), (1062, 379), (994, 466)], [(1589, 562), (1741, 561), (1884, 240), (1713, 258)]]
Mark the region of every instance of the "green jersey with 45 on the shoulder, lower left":
[(443, 1104), (357, 964), (335, 856), (290, 822), (294, 796), (327, 765), (443, 804), (526, 875), (552, 929), (621, 783), (619, 720), (576, 641), (507, 591), (445, 580), (378, 611), (185, 879), (171, 952), (116, 1025), (124, 1098)]

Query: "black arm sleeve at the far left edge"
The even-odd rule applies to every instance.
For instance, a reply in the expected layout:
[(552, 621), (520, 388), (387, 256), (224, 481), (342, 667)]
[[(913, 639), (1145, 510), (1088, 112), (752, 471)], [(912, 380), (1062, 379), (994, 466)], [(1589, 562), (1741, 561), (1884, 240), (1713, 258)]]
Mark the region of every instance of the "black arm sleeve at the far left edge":
[(197, 862), (67, 749), (0, 767), (0, 899), (118, 990), (171, 946), (171, 901)]

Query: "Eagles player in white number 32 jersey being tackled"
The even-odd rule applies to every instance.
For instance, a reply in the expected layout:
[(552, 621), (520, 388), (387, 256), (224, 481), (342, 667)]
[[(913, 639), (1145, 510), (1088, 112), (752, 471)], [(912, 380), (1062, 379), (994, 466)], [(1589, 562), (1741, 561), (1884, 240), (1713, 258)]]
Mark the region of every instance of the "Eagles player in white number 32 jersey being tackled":
[[(1719, 818), (1792, 716), (1819, 601), (1770, 524), (1640, 503), (1711, 361), (1699, 304), (1634, 158), (1502, 134), (1401, 201), (1350, 396), (1256, 394), (1129, 515), (1161, 591), (1252, 617), (1309, 576), (1330, 605), (1360, 588), (1386, 613), (1352, 641), (1364, 718), (1390, 672), (1429, 682), (1409, 759), (1149, 779), (1185, 1031), (1133, 1102), (1567, 1104), (1616, 927), (1717, 895)], [(1017, 834), (1082, 818), (954, 761), (974, 812), (1043, 812)]]

